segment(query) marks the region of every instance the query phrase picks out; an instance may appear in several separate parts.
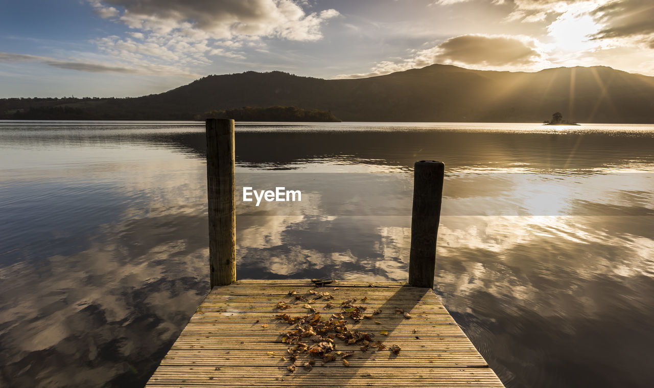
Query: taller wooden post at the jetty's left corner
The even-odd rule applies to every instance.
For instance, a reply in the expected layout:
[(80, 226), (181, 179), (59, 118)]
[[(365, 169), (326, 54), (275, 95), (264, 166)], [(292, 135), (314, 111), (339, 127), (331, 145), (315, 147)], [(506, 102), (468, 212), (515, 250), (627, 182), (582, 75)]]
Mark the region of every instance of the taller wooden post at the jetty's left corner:
[(236, 281), (234, 120), (207, 118), (211, 288)]

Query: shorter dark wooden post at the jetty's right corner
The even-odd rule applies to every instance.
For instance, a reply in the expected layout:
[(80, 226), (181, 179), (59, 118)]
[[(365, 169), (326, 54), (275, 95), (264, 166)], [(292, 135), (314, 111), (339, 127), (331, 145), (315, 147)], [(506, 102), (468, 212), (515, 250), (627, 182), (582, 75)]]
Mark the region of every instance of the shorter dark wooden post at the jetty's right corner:
[(445, 165), (421, 160), (413, 165), (413, 212), (409, 285), (434, 288), (436, 236), (441, 216)]

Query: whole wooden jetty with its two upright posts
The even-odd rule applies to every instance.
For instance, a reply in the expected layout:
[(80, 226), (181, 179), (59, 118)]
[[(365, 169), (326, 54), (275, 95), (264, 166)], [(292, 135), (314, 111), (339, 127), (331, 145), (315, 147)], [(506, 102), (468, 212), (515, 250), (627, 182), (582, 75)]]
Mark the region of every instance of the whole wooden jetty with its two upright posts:
[[(415, 165), (408, 284), (236, 281), (233, 120), (207, 120), (207, 140), (212, 289), (146, 387), (504, 387), (432, 291), (442, 163)], [(300, 325), (284, 315), (324, 335), (289, 340)], [(333, 349), (310, 356), (318, 345)]]

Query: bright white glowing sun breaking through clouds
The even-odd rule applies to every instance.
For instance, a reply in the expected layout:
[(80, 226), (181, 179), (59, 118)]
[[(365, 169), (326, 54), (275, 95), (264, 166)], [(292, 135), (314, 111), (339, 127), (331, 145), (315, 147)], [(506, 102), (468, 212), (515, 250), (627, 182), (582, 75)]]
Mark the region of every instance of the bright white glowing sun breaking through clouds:
[(589, 14), (566, 10), (547, 27), (547, 35), (553, 37), (561, 50), (574, 52), (596, 46), (590, 37), (599, 30), (600, 26)]

